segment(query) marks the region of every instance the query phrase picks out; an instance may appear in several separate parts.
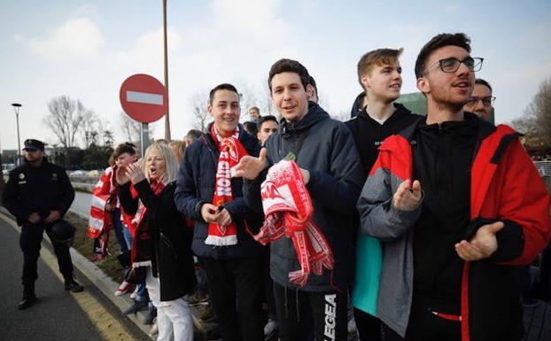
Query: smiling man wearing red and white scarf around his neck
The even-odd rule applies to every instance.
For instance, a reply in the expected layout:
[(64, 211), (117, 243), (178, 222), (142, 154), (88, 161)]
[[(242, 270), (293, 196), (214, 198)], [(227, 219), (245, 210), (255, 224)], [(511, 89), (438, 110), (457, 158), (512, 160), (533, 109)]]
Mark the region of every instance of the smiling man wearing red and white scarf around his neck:
[(213, 123), (185, 152), (176, 182), (178, 211), (195, 220), (191, 249), (202, 261), (213, 312), (224, 341), (264, 339), (262, 321), (263, 247), (254, 241), (262, 216), (242, 194), (230, 168), (260, 144), (239, 124), (239, 94), (231, 84), (210, 92)]

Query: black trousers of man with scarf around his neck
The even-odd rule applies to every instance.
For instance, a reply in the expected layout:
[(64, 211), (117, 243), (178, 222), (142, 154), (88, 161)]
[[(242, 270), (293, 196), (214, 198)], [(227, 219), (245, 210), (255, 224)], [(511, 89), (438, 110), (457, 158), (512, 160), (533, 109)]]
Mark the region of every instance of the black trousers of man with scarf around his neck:
[(222, 340), (263, 340), (262, 258), (202, 262)]

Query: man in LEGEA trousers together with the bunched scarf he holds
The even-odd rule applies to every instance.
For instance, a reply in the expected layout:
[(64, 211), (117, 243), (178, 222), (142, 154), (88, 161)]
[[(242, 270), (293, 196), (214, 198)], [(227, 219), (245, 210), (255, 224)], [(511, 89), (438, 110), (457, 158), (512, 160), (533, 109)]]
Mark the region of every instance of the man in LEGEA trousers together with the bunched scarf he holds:
[(360, 156), (345, 124), (307, 100), (306, 67), (281, 59), (268, 86), (283, 121), (260, 158), (244, 157), (234, 171), (248, 179), (247, 205), (262, 212), (261, 203), (267, 214), (258, 238), (270, 243), (279, 337), (308, 340), (313, 332), (316, 341), (346, 340)]

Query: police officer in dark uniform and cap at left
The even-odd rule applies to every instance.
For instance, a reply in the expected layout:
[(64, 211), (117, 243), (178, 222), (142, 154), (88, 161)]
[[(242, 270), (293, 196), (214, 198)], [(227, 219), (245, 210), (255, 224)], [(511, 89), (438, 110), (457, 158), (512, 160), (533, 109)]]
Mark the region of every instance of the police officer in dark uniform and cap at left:
[(72, 226), (61, 220), (73, 203), (73, 186), (65, 169), (50, 164), (44, 157), (44, 143), (28, 139), (23, 151), (26, 162), (12, 170), (2, 198), (5, 207), (21, 226), (19, 246), (23, 252), (23, 299), (19, 302), (19, 309), (32, 306), (36, 300), (36, 262), (40, 256), (44, 230), (58, 257), (59, 271), (65, 278), (65, 290), (84, 290), (73, 276), (68, 243), (71, 238), (67, 237), (70, 233), (66, 230), (67, 226)]

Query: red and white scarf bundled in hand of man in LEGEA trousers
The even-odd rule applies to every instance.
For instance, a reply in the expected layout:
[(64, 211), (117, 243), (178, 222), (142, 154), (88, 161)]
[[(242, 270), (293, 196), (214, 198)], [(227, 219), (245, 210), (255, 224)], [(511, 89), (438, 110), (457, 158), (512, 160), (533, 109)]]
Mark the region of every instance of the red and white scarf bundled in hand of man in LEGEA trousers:
[(282, 160), (271, 167), (261, 197), (266, 219), (254, 239), (265, 245), (283, 235), (291, 238), (301, 267), (289, 274), (291, 283), (304, 286), (311, 272), (322, 275), (323, 267), (332, 270), (333, 252), (311, 219), (314, 206), (299, 166)]

